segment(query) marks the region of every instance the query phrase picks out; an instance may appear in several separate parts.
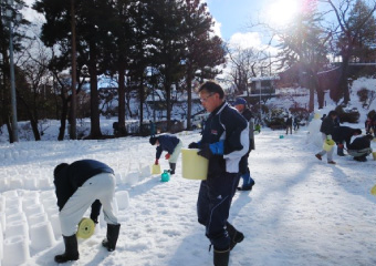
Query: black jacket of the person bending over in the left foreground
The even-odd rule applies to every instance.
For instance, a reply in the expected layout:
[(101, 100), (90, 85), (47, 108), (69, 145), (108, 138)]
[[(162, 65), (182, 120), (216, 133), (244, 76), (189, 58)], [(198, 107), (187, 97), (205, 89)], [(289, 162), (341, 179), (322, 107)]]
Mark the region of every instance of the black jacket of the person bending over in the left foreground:
[(61, 211), (67, 200), (88, 178), (101, 173), (114, 174), (114, 171), (106, 164), (95, 160), (76, 161), (61, 170), (54, 176), (55, 193), (58, 197), (59, 211)]

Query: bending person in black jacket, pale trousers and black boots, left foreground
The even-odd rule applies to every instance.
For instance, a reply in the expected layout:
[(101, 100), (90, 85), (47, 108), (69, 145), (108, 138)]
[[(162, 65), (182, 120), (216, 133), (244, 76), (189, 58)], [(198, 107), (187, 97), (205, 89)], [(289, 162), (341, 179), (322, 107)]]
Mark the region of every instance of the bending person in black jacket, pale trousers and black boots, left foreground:
[(94, 202), (96, 203), (93, 205), (97, 206), (97, 201), (103, 205), (104, 219), (107, 223), (107, 237), (102, 242), (102, 245), (108, 252), (113, 252), (116, 247), (121, 228), (113, 212), (115, 194), (114, 171), (108, 165), (98, 161), (81, 160), (72, 164), (59, 164), (54, 168), (53, 175), (59, 219), (65, 244), (65, 253), (55, 256), (55, 262), (65, 263), (80, 258), (75, 235), (76, 227), (86, 209)]

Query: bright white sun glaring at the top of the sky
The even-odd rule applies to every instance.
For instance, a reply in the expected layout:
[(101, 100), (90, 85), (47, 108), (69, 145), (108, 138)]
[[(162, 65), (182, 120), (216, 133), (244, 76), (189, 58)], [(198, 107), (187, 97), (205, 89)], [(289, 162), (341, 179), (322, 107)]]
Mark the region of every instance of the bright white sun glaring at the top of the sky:
[(269, 6), (268, 19), (274, 25), (289, 23), (299, 11), (301, 0), (275, 0)]

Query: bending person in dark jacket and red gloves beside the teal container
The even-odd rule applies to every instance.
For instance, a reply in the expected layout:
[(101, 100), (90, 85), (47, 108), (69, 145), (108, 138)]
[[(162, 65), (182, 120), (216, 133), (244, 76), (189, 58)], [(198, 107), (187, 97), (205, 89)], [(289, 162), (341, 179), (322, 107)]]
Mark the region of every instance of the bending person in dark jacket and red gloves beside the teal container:
[(152, 136), (149, 139), (152, 145), (157, 145), (155, 164), (159, 163), (163, 151), (167, 152), (165, 158), (168, 160), (170, 174), (175, 174), (176, 162), (178, 161), (182, 142), (175, 135), (165, 134), (159, 136)]

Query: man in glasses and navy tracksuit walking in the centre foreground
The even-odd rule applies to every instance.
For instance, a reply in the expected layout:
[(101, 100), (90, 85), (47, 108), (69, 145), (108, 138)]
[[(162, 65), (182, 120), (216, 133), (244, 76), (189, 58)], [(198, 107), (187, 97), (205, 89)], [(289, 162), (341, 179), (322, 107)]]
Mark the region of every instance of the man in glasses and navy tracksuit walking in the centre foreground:
[(207, 180), (201, 182), (197, 201), (198, 222), (213, 245), (215, 266), (229, 264), (230, 250), (243, 234), (228, 223), (231, 201), (239, 183), (239, 163), (249, 151), (249, 129), (244, 117), (224, 101), (222, 88), (207, 81), (199, 88), (200, 101), (210, 112), (199, 142), (199, 155), (209, 160)]

